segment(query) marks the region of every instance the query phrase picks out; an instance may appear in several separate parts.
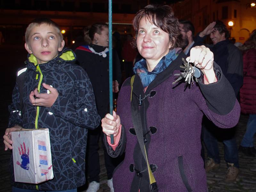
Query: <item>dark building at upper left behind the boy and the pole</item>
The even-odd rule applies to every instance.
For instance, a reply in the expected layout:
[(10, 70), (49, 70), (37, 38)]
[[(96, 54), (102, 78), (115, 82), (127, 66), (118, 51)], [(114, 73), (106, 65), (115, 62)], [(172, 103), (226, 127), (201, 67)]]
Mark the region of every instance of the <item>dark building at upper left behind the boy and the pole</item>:
[[(134, 34), (134, 14), (148, 0), (112, 0), (113, 32)], [(65, 30), (64, 39), (71, 45), (85, 26), (108, 22), (108, 0), (0, 0), (0, 32), (4, 44), (24, 43), (28, 23), (48, 17)]]

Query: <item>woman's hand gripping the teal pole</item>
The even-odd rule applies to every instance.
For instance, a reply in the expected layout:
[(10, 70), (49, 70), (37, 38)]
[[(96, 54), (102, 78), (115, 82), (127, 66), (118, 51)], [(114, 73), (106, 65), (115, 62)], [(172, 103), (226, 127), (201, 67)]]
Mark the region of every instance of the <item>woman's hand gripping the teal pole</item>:
[(103, 119), (101, 119), (102, 131), (110, 137), (111, 134), (116, 137), (117, 133), (120, 130), (120, 117), (113, 111), (113, 116), (109, 113), (105, 115)]

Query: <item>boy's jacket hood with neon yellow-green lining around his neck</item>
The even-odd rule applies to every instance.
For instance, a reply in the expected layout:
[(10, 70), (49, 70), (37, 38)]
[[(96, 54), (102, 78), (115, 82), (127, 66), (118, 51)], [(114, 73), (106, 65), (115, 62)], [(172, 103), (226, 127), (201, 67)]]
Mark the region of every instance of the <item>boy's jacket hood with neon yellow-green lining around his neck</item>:
[[(71, 49), (63, 48), (63, 50), (59, 52), (57, 57), (46, 63), (40, 64), (40, 68), (54, 70), (63, 67), (61, 66), (61, 64), (74, 63), (75, 61), (75, 53)], [(27, 64), (27, 67), (29, 69), (36, 70), (37, 60), (33, 54), (28, 54), (28, 60), (25, 61), (25, 63)]]

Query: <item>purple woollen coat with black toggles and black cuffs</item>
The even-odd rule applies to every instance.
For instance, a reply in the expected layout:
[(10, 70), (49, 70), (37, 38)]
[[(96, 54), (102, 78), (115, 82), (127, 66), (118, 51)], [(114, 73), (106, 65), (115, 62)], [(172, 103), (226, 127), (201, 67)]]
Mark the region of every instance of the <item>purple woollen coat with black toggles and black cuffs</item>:
[[(232, 86), (218, 65), (215, 66), (218, 78), (216, 83), (204, 85), (201, 76), (198, 84), (194, 81), (194, 85), (185, 90), (183, 82), (172, 85), (176, 77), (172, 74), (180, 72), (182, 57), (186, 56), (180, 53), (176, 60), (159, 73), (145, 93), (140, 77), (136, 75), (132, 102), (138, 102), (137, 96), (140, 94), (143, 98), (151, 91), (156, 91), (153, 97), (143, 100), (140, 115), (148, 161), (159, 192), (206, 192), (206, 173), (200, 156), (203, 114), (217, 126), (230, 128), (239, 120), (240, 106)], [(148, 172), (142, 172), (147, 166), (132, 124), (130, 78), (126, 79), (121, 88), (117, 106), (122, 138), (115, 151), (106, 144), (109, 155), (113, 157), (125, 150), (124, 161), (113, 173), (115, 192), (138, 192), (139, 189), (140, 192), (148, 192)]]

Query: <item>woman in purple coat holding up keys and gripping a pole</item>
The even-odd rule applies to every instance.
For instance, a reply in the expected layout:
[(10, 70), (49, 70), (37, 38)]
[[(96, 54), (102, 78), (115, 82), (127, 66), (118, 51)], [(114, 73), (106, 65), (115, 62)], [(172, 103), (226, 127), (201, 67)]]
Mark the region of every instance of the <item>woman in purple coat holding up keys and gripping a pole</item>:
[[(124, 161), (113, 174), (115, 192), (156, 188), (206, 192), (200, 156), (203, 113), (219, 127), (233, 127), (240, 113), (234, 91), (219, 66), (214, 64), (213, 68), (213, 54), (204, 46), (192, 48), (187, 58), (204, 74), (198, 84), (194, 81), (185, 90), (184, 80), (172, 84), (186, 55), (177, 48), (182, 38), (169, 6), (146, 6), (135, 15), (133, 26), (138, 51), (145, 59), (134, 66), (134, 82), (128, 78), (122, 85), (118, 115), (107, 114), (102, 119), (108, 154), (115, 157), (125, 150)], [(114, 134), (115, 144), (110, 144), (110, 134)], [(139, 134), (144, 137), (148, 164), (158, 187), (151, 182), (152, 177), (149, 179)]]

